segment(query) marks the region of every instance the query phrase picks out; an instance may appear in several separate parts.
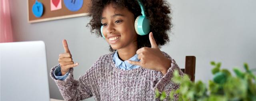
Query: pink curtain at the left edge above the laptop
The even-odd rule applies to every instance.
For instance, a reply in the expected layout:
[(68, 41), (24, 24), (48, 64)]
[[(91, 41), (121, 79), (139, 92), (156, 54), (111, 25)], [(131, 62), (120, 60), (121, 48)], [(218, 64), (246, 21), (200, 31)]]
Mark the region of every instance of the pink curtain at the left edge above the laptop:
[(9, 0), (0, 0), (0, 43), (13, 42)]

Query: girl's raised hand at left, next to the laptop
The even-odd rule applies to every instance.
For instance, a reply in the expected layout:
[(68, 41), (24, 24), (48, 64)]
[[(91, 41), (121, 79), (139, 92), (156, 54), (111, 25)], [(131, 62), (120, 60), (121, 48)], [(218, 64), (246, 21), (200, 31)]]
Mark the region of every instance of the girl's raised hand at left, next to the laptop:
[(72, 55), (68, 49), (68, 43), (66, 40), (62, 41), (65, 53), (61, 53), (59, 55), (59, 63), (60, 63), (60, 68), (61, 68), (61, 74), (65, 75), (70, 68), (72, 67), (76, 67), (78, 65), (78, 63), (74, 64), (74, 61), (72, 59)]

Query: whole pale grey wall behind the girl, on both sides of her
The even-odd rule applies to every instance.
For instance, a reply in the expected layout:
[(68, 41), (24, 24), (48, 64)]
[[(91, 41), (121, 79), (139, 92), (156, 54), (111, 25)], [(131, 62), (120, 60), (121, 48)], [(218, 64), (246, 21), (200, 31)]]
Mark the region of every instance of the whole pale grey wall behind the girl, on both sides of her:
[[(256, 4), (255, 0), (168, 0), (173, 10), (173, 34), (166, 51), (183, 68), (186, 55), (196, 56), (196, 80), (211, 79), (210, 61), (221, 61), (222, 67), (242, 68), (247, 62), (256, 67)], [(48, 22), (27, 23), (27, 2), (10, 0), (14, 40), (43, 40), (46, 43), (48, 70), (58, 64), (64, 52), (62, 39), (67, 39), (73, 59), (80, 65), (74, 77), (82, 75), (100, 55), (109, 53), (102, 38), (90, 34), (88, 17)], [(50, 97), (63, 99), (49, 77)], [(84, 101), (94, 101), (92, 98)]]

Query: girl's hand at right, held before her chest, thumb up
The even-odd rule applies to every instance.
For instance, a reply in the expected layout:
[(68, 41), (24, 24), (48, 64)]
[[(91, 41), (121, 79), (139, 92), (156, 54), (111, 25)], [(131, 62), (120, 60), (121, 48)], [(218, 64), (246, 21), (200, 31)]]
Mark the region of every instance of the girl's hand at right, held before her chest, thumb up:
[(154, 69), (162, 72), (163, 74), (167, 73), (168, 68), (171, 67), (171, 60), (162, 54), (158, 48), (158, 45), (156, 44), (156, 41), (154, 40), (152, 32), (149, 34), (149, 40), (151, 48), (143, 47), (136, 51), (140, 61), (128, 60), (128, 63), (140, 65), (141, 67), (147, 69)]

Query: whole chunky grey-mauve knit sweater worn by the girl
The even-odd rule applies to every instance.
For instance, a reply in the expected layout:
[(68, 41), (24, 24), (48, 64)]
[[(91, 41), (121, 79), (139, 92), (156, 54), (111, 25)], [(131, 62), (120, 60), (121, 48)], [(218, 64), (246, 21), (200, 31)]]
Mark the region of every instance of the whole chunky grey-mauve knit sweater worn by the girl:
[[(155, 89), (160, 92), (177, 89), (179, 85), (170, 79), (178, 65), (167, 53), (162, 52), (172, 60), (171, 67), (165, 75), (160, 71), (139, 67), (123, 70), (115, 67), (113, 53), (101, 56), (78, 80), (73, 77), (73, 68), (65, 80), (54, 78), (52, 67), (50, 76), (56, 82), (65, 101), (78, 101), (88, 97), (95, 97), (96, 101), (158, 101), (155, 99)], [(168, 95), (168, 94), (167, 94)]]

